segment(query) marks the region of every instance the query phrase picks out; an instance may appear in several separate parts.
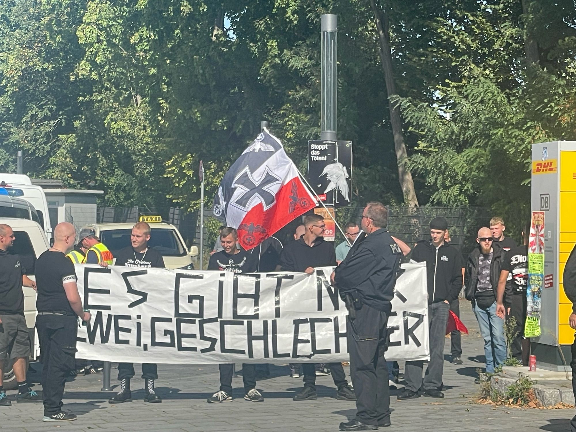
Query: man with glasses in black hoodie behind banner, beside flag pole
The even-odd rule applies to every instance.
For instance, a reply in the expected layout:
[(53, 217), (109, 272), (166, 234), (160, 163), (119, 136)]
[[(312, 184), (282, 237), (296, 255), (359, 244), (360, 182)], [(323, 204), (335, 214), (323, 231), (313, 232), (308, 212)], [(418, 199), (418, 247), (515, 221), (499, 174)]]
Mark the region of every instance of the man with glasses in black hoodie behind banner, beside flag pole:
[[(312, 274), (314, 267), (336, 266), (336, 252), (334, 244), (324, 241), (326, 225), (324, 218), (317, 214), (304, 217), (306, 232), (298, 240), (290, 242), (280, 255), (280, 268), (282, 271), (300, 271)], [(342, 363), (329, 363), (330, 373), (334, 384), (338, 386), (336, 399), (356, 400), (353, 389), (346, 381), (346, 374)], [(302, 365), (304, 373), (304, 389), (297, 393), (293, 400), (318, 399), (316, 393), (316, 369), (314, 363)]]

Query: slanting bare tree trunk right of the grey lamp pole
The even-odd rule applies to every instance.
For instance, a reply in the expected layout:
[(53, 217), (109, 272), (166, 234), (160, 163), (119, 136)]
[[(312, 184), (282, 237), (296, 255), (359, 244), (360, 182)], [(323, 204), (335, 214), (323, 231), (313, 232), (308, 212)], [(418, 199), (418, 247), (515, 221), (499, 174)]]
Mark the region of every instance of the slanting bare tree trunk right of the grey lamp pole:
[(396, 85), (392, 73), (392, 52), (390, 50), (388, 16), (386, 16), (386, 12), (376, 4), (376, 0), (370, 0), (370, 5), (372, 6), (374, 19), (376, 20), (378, 39), (380, 39), (380, 61), (386, 81), (386, 93), (388, 93), (388, 109), (390, 110), (390, 124), (392, 126), (392, 134), (394, 135), (394, 148), (398, 164), (398, 180), (400, 181), (400, 187), (404, 195), (404, 203), (406, 203), (408, 207), (418, 207), (414, 180), (412, 180), (412, 173), (407, 166), (408, 154), (402, 132), (400, 109), (393, 106), (390, 101), (390, 97), (396, 94)]

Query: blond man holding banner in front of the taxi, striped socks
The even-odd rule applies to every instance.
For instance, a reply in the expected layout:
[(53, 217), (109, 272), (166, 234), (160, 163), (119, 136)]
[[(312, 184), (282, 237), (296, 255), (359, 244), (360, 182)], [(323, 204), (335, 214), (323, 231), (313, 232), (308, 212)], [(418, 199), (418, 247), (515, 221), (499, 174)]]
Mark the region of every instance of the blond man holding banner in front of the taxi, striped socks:
[[(150, 233), (150, 225), (146, 222), (138, 222), (134, 225), (130, 235), (132, 245), (118, 251), (116, 266), (166, 268), (160, 252), (148, 247)], [(157, 369), (158, 367), (154, 363), (142, 363), (142, 379), (145, 381), (146, 388), (146, 395), (144, 396), (145, 402), (160, 403), (162, 401), (161, 397), (154, 391), (154, 381), (158, 379)], [(123, 403), (132, 400), (130, 380), (133, 377), (134, 363), (118, 364), (120, 391), (108, 400), (109, 403)]]

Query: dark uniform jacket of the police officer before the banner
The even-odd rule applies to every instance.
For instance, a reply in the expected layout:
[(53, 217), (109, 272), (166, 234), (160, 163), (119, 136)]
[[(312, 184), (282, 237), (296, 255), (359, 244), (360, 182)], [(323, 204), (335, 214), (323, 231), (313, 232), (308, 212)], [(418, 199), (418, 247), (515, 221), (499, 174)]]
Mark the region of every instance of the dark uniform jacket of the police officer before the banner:
[(381, 228), (354, 243), (334, 270), (336, 286), (343, 293), (355, 289), (363, 304), (389, 312), (401, 257), (400, 247)]

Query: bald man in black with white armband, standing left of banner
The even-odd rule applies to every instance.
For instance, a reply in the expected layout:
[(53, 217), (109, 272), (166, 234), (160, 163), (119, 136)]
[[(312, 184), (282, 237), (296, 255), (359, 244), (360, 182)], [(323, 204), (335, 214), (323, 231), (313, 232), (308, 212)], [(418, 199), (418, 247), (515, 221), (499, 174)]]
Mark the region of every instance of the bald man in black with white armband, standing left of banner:
[(74, 368), (77, 319), (89, 321), (90, 313), (84, 312), (74, 264), (66, 258), (75, 238), (71, 223), (59, 223), (54, 228), (54, 246), (36, 260), (36, 329), (43, 365), (44, 422), (76, 419), (75, 414), (62, 411), (62, 395), (66, 377)]

